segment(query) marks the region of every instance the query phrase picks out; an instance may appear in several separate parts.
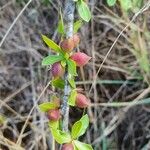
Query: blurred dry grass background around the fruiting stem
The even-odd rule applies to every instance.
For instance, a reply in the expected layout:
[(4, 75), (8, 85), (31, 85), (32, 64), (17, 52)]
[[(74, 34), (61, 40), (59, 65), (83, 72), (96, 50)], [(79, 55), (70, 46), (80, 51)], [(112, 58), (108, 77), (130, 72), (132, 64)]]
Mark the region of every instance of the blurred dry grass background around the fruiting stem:
[[(0, 41), (27, 3), (0, 0)], [(0, 47), (2, 150), (52, 149), (48, 119), (37, 105), (55, 93), (51, 86), (45, 89), (52, 76), (41, 60), (51, 51), (41, 34), (59, 43), (62, 3), (33, 0)], [(118, 0), (112, 7), (105, 0), (89, 0), (88, 4), (92, 19), (79, 30), (79, 49), (92, 60), (78, 69), (76, 84), (92, 105), (87, 110), (90, 127), (81, 140), (94, 150), (149, 150), (150, 1)], [(77, 12), (75, 18), (79, 19)], [(70, 127), (82, 113), (82, 109), (70, 109)]]

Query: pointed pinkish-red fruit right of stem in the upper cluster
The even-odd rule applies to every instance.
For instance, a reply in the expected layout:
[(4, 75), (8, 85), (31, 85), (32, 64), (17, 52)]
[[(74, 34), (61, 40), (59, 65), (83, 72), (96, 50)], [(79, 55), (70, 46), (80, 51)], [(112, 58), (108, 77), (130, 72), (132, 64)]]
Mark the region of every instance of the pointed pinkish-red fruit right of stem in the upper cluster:
[(76, 62), (76, 65), (79, 67), (86, 65), (91, 59), (91, 57), (81, 52), (74, 53), (70, 58), (74, 60)]

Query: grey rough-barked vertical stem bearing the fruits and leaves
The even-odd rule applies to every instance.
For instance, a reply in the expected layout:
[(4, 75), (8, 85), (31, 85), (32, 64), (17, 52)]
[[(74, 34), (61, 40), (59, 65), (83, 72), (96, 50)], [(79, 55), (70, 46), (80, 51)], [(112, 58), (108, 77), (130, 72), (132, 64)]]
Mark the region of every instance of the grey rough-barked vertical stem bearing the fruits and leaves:
[[(66, 0), (64, 8), (64, 24), (65, 24), (66, 38), (72, 37), (73, 35), (74, 10), (75, 10), (75, 2), (73, 0)], [(65, 80), (64, 97), (61, 105), (63, 131), (68, 131), (68, 123), (69, 123), (69, 106), (67, 102), (70, 93), (70, 85), (67, 79), (68, 79), (68, 71), (66, 67), (64, 75)]]

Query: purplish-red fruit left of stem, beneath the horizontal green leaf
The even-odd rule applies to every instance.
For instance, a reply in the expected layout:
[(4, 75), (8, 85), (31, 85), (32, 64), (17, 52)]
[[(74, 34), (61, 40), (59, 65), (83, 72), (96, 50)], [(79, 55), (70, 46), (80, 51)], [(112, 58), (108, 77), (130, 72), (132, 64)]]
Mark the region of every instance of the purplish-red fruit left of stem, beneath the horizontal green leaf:
[(52, 65), (52, 75), (54, 77), (61, 77), (64, 74), (64, 68), (60, 62), (56, 62)]

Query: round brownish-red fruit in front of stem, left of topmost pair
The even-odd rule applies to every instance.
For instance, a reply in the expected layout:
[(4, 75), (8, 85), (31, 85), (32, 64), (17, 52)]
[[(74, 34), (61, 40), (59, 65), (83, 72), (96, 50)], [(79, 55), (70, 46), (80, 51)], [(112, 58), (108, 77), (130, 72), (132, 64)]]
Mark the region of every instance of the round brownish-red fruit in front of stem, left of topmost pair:
[(71, 52), (74, 48), (74, 42), (72, 38), (69, 39), (65, 39), (60, 43), (60, 47), (62, 48), (62, 50), (64, 50), (65, 52)]

